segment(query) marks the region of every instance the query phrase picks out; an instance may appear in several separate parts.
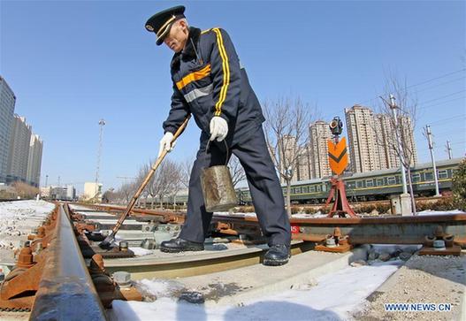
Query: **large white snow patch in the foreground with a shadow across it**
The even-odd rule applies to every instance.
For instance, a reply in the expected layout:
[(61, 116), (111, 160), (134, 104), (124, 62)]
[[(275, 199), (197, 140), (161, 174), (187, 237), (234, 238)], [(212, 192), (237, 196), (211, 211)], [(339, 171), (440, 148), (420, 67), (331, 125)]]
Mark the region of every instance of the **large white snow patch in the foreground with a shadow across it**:
[[(401, 261), (348, 267), (279, 294), (264, 295), (239, 306), (204, 306), (177, 302), (176, 281), (141, 280), (155, 302), (114, 301), (111, 320), (344, 320), (363, 308), (364, 299), (401, 265)], [(173, 291), (173, 289), (175, 291)]]

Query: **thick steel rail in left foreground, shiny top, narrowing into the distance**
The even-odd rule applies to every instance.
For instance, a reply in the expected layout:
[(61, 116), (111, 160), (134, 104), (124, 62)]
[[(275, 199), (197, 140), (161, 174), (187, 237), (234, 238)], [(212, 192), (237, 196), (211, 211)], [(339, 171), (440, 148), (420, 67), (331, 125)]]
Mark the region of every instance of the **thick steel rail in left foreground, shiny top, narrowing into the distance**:
[(106, 320), (68, 213), (60, 205), (30, 320)]

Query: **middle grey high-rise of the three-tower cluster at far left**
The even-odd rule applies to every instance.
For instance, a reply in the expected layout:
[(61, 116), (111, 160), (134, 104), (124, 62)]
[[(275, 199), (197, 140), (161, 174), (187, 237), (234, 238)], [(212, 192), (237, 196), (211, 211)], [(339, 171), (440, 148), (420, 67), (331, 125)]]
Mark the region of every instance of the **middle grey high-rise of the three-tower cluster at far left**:
[(11, 126), (7, 182), (26, 181), (31, 134), (31, 126), (27, 125), (26, 118), (14, 115)]

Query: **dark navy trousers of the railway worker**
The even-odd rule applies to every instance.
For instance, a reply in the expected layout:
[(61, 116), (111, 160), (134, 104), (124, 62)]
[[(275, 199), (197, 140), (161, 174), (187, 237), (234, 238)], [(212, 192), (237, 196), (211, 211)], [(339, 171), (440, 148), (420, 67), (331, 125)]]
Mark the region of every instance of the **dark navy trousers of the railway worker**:
[(246, 172), (249, 191), (256, 210), (262, 233), (269, 245), (290, 244), (291, 231), (286, 215), (283, 193), (279, 178), (271, 161), (262, 126), (258, 126), (241, 139), (235, 139), (229, 147), (228, 156), (224, 141), (211, 141), (206, 151), (207, 135), (202, 135), (201, 147), (197, 152), (189, 180), (187, 218), (180, 238), (203, 242), (209, 233), (212, 213), (204, 206), (201, 187), (202, 168), (225, 164), (226, 157), (233, 153), (239, 158)]

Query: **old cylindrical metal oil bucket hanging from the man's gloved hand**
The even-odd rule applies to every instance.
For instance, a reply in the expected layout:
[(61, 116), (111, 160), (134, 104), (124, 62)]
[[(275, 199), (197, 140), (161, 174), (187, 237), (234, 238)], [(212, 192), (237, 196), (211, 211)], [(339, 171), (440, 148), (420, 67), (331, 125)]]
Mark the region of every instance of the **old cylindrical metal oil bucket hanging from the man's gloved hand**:
[[(206, 152), (207, 149), (209, 149), (209, 143), (206, 146)], [(226, 149), (227, 162), (228, 149)], [(226, 164), (203, 168), (201, 172), (201, 187), (205, 210), (209, 212), (230, 210), (238, 204), (232, 175)]]

